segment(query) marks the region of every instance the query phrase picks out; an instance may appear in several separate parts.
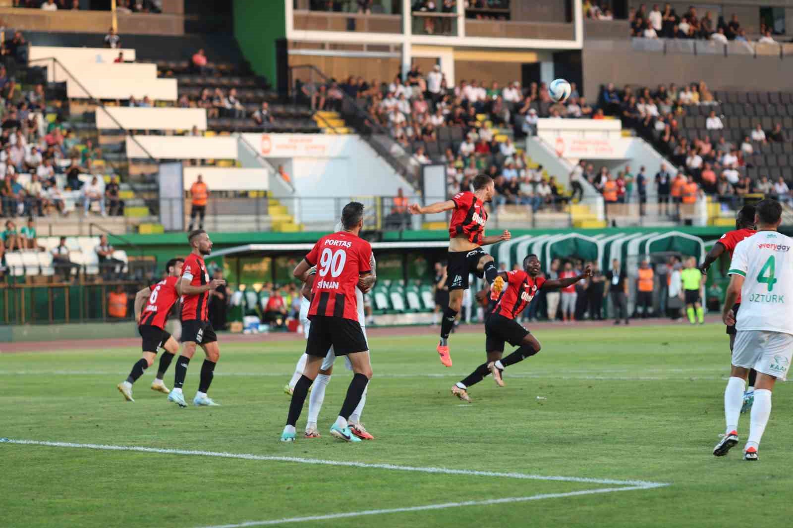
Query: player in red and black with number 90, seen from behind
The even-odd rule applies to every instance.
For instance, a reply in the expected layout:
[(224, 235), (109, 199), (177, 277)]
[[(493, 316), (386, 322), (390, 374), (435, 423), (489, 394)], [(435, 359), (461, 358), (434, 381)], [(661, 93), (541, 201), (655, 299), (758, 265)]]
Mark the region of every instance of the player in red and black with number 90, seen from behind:
[(328, 349), (333, 346), (336, 356), (347, 356), (353, 370), (347, 397), (339, 418), (331, 426), (331, 434), (346, 442), (360, 442), (347, 423), (358, 407), (366, 385), (372, 377), (369, 346), (358, 323), (358, 300), (355, 288), (362, 293), (374, 285), (372, 247), (358, 233), (363, 228), (363, 204), (351, 201), (342, 210), (343, 231), (325, 235), (294, 270), (294, 276), (306, 281), (312, 266), (316, 277), (312, 284), (311, 308), (308, 308), (308, 359), (303, 375), (297, 381), (289, 404), (289, 415), (281, 434), (282, 442), (294, 442), (295, 424), (300, 418), (308, 388), (320, 373)]

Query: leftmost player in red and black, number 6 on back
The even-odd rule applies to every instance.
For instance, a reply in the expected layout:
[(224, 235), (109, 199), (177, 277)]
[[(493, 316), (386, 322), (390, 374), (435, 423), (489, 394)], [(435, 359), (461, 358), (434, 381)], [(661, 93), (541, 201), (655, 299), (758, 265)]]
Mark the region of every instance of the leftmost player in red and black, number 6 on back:
[[(138, 323), (138, 333), (143, 339), (143, 358), (140, 358), (126, 381), (117, 385), (118, 391), (124, 395), (125, 400), (132, 400), (132, 384), (154, 363), (157, 349), (165, 350), (159, 358), (157, 377), (151, 383), (151, 390), (168, 393), (168, 388), (163, 383), (163, 375), (170, 365), (170, 360), (179, 350), (179, 343), (165, 331), (165, 321), (168, 319), (170, 309), (178, 301), (176, 282), (182, 274), (184, 258), (171, 258), (165, 265), (167, 277), (151, 288), (141, 289), (135, 296), (135, 322)], [(145, 306), (144, 306), (145, 301)]]

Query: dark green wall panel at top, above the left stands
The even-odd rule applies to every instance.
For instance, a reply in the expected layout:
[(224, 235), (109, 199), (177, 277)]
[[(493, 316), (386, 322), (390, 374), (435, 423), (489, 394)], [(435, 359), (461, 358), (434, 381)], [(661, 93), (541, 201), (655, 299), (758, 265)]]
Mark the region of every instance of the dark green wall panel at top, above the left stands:
[(278, 86), (275, 41), (286, 37), (283, 0), (235, 0), (234, 36), (257, 75)]

